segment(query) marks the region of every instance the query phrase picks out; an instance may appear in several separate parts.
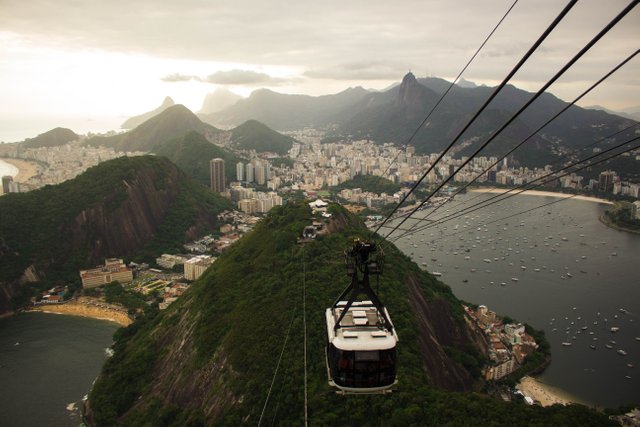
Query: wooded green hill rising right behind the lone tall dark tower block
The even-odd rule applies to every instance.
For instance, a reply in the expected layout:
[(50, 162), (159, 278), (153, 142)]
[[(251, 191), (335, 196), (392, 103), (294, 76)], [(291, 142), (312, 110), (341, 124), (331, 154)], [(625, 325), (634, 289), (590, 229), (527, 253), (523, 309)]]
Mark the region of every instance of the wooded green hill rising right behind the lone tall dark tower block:
[(227, 182), (236, 179), (236, 163), (246, 160), (207, 141), (201, 134), (191, 131), (185, 135), (162, 142), (153, 147), (153, 152), (167, 157), (191, 178), (205, 186), (211, 182), (209, 162), (224, 159)]

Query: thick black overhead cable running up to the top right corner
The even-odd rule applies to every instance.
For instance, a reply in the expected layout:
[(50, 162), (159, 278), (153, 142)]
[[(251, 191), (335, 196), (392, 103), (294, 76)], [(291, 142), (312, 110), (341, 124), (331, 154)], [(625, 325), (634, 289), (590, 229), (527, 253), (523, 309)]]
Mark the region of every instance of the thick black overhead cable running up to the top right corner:
[[(634, 0), (626, 8), (622, 10), (615, 18), (613, 18), (609, 24), (607, 24), (589, 43), (587, 43), (580, 51), (573, 57), (569, 62), (567, 62), (550, 80), (548, 80), (539, 90), (536, 92), (515, 114), (511, 116), (509, 120), (507, 120), (496, 132), (494, 132), (489, 139), (487, 139), (480, 147), (473, 152), (473, 154), (465, 160), (462, 165), (453, 172), (453, 174), (449, 175), (447, 179), (445, 179), (435, 190), (433, 190), (427, 198), (425, 198), (418, 206), (416, 206), (409, 216), (405, 217), (400, 221), (400, 223), (396, 226), (399, 227), (402, 225), (411, 215), (413, 215), (418, 209), (420, 209), (434, 194), (436, 194), (442, 187), (444, 187), (453, 177), (464, 168), (475, 156), (478, 155), (480, 151), (482, 151), (487, 145), (491, 143), (504, 129), (506, 129), (524, 110), (526, 110), (536, 99), (538, 99), (553, 83), (555, 83), (569, 68), (571, 68), (593, 45), (595, 45), (605, 34), (607, 34), (622, 18), (624, 18), (638, 3), (640, 0)], [(434, 163), (435, 166), (435, 163)], [(430, 168), (432, 169), (433, 166)], [(414, 186), (415, 188), (415, 186)], [(410, 193), (409, 193), (410, 194)], [(395, 229), (393, 229), (390, 233), (388, 233), (386, 237), (388, 237), (391, 233), (393, 233)]]

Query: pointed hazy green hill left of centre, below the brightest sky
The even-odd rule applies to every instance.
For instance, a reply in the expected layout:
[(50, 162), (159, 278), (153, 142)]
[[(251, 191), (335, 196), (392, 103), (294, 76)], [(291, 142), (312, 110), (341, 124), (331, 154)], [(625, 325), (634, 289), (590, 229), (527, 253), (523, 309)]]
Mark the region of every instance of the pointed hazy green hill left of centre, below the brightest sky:
[(174, 105), (135, 129), (119, 135), (91, 138), (88, 143), (104, 145), (120, 151), (153, 152), (154, 147), (186, 133), (196, 131), (207, 138), (222, 133), (220, 129), (203, 123), (184, 105)]

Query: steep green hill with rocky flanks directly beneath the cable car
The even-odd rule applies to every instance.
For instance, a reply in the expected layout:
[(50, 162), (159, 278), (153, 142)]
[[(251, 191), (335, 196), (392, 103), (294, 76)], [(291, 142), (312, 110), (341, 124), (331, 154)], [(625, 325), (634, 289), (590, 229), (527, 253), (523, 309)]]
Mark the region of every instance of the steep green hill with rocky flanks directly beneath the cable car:
[(327, 386), (324, 310), (347, 284), (342, 250), (367, 231), (331, 209), (330, 234), (301, 247), (295, 241), (310, 222), (308, 206), (274, 208), (169, 309), (121, 329), (90, 392), (89, 421), (255, 425), (282, 352), (264, 420), (300, 425), (304, 284), (312, 425), (608, 424), (582, 406), (543, 409), (468, 392), (479, 362), (460, 302), (393, 246), (380, 294), (400, 337), (400, 383), (391, 395), (336, 395)]

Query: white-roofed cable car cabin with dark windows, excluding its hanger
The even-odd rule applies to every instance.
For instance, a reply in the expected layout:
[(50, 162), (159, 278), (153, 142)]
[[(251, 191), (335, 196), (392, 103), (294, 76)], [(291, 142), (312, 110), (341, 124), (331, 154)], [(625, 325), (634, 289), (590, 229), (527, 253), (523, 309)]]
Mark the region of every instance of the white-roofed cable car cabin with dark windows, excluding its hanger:
[(329, 385), (344, 394), (391, 392), (397, 383), (395, 328), (381, 326), (383, 316), (371, 301), (354, 301), (336, 328), (346, 305), (347, 301), (339, 301), (326, 311)]

